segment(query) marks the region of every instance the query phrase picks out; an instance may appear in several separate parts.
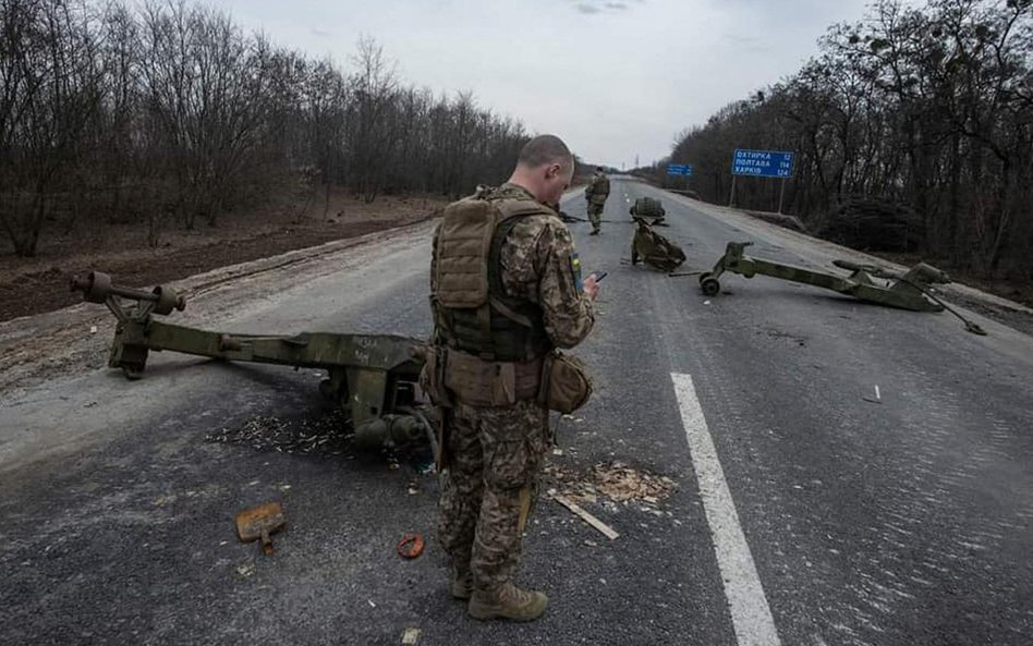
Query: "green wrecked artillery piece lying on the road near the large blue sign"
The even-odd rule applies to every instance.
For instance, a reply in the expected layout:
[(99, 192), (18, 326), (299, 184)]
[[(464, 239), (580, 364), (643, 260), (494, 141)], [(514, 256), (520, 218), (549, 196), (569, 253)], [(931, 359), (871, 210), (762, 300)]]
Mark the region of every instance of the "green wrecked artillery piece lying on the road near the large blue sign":
[(876, 265), (859, 265), (848, 260), (833, 260), (833, 265), (850, 271), (849, 276), (837, 276), (814, 271), (785, 263), (775, 263), (748, 256), (745, 247), (752, 242), (729, 242), (712, 271), (700, 275), (700, 287), (707, 296), (716, 296), (721, 291), (718, 278), (730, 271), (745, 278), (757, 273), (802, 282), (847, 294), (861, 301), (910, 309), (912, 312), (943, 312), (947, 309), (964, 322), (965, 330), (975, 334), (986, 334), (976, 324), (965, 319), (958, 312), (933, 293), (934, 284), (946, 284), (950, 278), (939, 269), (919, 263), (906, 273), (898, 273)]

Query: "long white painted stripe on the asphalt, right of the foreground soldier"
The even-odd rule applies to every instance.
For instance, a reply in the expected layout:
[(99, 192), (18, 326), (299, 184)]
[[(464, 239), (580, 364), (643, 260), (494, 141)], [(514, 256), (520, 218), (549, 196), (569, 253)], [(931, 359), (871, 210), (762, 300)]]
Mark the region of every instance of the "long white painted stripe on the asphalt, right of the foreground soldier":
[(703, 409), (690, 375), (671, 373), (675, 395), (685, 427), (692, 467), (700, 484), (703, 509), (710, 525), (717, 565), (725, 582), (725, 596), (731, 611), (736, 638), (740, 646), (779, 646), (771, 609), (764, 596), (750, 546), (739, 525), (739, 514), (725, 482), (714, 440), (707, 429)]

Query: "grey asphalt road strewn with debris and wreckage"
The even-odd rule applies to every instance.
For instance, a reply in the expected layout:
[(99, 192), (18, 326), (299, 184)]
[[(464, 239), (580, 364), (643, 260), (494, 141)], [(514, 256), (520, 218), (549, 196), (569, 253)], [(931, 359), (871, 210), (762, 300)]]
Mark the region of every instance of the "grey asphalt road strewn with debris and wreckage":
[[(627, 264), (636, 196), (664, 200), (686, 270), (730, 240), (812, 266), (839, 251), (612, 185), (601, 235), (571, 226), (608, 277), (578, 351), (596, 394), (555, 419), (554, 463), (676, 489), (587, 504), (612, 541), (542, 500), (520, 574), (550, 595), (540, 621), (479, 623), (448, 598), (418, 460), (206, 441), (325, 416), (319, 375), (156, 355), (138, 382), (98, 367), (0, 398), (0, 643), (1029, 644), (1033, 339), (763, 277), (708, 298)], [(179, 320), (423, 337), (429, 232), (227, 283)], [(232, 516), (269, 500), (289, 525), (263, 557)], [(404, 561), (414, 531), (428, 549)]]

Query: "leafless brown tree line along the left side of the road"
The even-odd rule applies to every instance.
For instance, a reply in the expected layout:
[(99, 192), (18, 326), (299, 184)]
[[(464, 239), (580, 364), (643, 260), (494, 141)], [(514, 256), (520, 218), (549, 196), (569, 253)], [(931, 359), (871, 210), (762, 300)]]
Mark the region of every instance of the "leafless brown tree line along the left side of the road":
[(405, 84), (369, 38), (342, 69), (182, 0), (0, 0), (0, 234), (22, 256), (47, 222), (146, 222), (157, 244), (277, 195), (455, 196), (528, 138)]

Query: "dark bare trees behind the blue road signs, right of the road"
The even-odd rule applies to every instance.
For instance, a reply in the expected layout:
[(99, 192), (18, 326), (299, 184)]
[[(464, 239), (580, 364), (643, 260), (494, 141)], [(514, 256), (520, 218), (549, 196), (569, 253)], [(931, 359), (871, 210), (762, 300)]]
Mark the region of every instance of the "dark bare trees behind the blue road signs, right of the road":
[[(736, 148), (795, 151), (786, 205), (813, 230), (1030, 280), (1033, 1), (878, 0), (799, 72), (681, 133), (669, 161), (727, 203)], [(739, 178), (737, 205), (774, 210), (779, 188)]]

